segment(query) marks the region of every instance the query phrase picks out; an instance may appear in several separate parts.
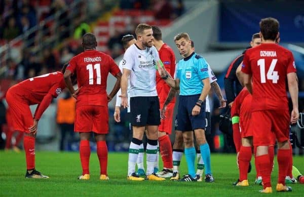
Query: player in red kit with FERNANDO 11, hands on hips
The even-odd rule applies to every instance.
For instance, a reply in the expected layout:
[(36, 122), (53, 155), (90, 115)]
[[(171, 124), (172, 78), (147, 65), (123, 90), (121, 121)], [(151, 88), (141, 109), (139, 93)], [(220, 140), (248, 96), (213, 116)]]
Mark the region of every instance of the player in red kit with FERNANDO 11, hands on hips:
[[(83, 36), (84, 52), (74, 56), (64, 73), (64, 81), (76, 102), (74, 131), (80, 133), (80, 160), (83, 169), (79, 179), (90, 179), (90, 136), (94, 133), (97, 155), (100, 164), (100, 180), (108, 180), (107, 146), (105, 136), (108, 133), (108, 102), (120, 89), (122, 73), (114, 60), (96, 50), (96, 37), (92, 33)], [(77, 73), (78, 90), (74, 90), (70, 76)], [(117, 78), (109, 95), (106, 93), (108, 73)]]

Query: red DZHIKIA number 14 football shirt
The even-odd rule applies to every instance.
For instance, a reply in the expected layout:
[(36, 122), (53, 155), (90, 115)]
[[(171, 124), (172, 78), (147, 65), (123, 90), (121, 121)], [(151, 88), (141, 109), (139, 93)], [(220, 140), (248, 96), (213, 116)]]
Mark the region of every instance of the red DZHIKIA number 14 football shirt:
[(296, 72), (292, 53), (277, 44), (248, 49), (242, 71), (252, 74), (252, 111), (288, 110), (287, 73)]

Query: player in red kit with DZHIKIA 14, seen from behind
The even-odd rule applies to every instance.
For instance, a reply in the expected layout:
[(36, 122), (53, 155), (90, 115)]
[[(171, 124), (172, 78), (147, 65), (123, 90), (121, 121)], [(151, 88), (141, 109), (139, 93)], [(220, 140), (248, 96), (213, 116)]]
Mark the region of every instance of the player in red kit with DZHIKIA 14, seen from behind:
[[(274, 18), (260, 21), (262, 44), (246, 51), (242, 72), (244, 84), (252, 94), (251, 120), (253, 145), (257, 146), (255, 159), (263, 180), (263, 193), (271, 193), (271, 171), (268, 153), (272, 143), (272, 132), (278, 141), (279, 177), (277, 191), (291, 191), (285, 185), (291, 148), (289, 142), (289, 123), (298, 120), (298, 87), (296, 69), (292, 53), (277, 45), (279, 22)], [(291, 119), (285, 81), (292, 100)], [(251, 81), (252, 80), (252, 81)]]

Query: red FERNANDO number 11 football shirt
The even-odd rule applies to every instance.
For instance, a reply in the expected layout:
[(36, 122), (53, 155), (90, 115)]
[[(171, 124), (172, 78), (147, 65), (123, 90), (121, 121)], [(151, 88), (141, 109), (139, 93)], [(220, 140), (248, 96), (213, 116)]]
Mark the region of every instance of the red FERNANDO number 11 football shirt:
[(120, 72), (114, 60), (99, 51), (87, 50), (74, 56), (67, 66), (72, 73), (77, 73), (80, 88), (76, 106), (107, 106), (106, 82), (110, 72), (113, 76)]

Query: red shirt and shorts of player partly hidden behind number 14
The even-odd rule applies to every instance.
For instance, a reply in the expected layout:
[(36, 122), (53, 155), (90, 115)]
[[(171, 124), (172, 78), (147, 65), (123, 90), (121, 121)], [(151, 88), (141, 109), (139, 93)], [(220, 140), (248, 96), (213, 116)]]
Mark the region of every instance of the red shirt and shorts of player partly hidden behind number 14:
[(231, 116), (240, 116), (240, 127), (242, 131), (248, 131), (250, 129), (251, 119), (251, 94), (246, 88), (240, 92), (233, 102), (231, 108)]

